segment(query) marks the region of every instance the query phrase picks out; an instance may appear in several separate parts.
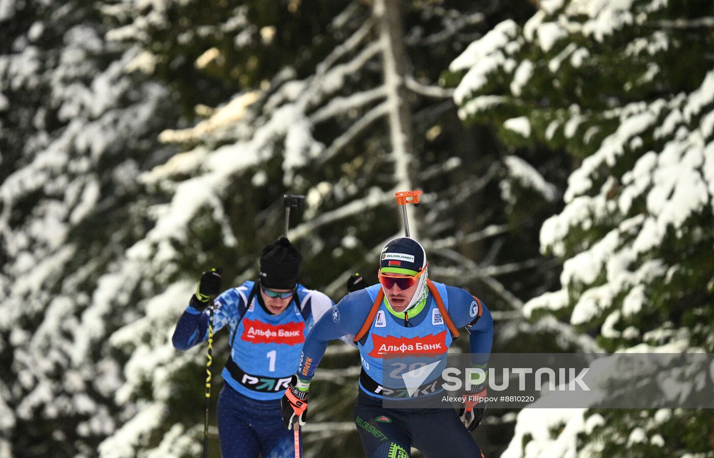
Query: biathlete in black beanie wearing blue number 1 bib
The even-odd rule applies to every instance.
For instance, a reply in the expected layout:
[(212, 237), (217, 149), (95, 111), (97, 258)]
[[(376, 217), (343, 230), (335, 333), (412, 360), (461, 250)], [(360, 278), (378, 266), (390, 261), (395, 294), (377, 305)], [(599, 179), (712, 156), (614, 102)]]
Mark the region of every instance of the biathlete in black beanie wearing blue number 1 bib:
[[(293, 457), (293, 434), (283, 427), (280, 399), (295, 373), (308, 331), (334, 303), (297, 283), (301, 255), (287, 238), (263, 249), (260, 280), (226, 290), (213, 302), (215, 331), (228, 325), (231, 355), (218, 396), (223, 458)], [(209, 297), (220, 271), (201, 275), (196, 294), (176, 325), (178, 350), (208, 338)]]

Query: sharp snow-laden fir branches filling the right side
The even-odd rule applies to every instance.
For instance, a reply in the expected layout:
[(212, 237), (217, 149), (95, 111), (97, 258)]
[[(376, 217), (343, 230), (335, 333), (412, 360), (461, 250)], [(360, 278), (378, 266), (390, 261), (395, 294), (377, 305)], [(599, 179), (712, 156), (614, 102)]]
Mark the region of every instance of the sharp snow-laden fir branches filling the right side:
[[(543, 0), (451, 63), (468, 122), (573, 157), (533, 298), (608, 352), (714, 351), (714, 5)], [(520, 150), (518, 150), (520, 151)], [(523, 409), (504, 457), (710, 457), (708, 410)]]

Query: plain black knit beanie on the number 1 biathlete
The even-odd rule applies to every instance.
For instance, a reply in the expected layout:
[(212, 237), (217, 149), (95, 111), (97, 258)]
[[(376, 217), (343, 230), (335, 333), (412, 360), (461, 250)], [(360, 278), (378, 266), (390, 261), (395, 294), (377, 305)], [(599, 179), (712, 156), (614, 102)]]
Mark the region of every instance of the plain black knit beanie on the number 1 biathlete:
[(298, 283), (302, 255), (285, 237), (261, 252), (261, 285), (273, 290), (291, 290)]

